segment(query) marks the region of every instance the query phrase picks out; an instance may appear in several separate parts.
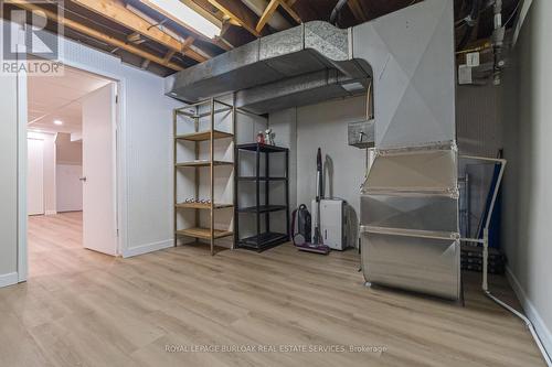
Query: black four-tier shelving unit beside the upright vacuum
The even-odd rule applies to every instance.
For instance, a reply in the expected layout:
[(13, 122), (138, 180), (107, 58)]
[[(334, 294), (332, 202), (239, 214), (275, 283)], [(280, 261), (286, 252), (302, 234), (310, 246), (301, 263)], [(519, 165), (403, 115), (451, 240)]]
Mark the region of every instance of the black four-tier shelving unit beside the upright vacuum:
[[(240, 176), (240, 151), (250, 151), (255, 152), (255, 175), (254, 176)], [(284, 177), (274, 177), (269, 175), (270, 172), (270, 155), (275, 155), (273, 153), (283, 153), (276, 155), (284, 155), (285, 158), (285, 176)], [(263, 156), (264, 155), (264, 156)], [(266, 250), (267, 248), (272, 248), (278, 245), (282, 245), (289, 240), (289, 149), (276, 147), (276, 145), (267, 145), (259, 143), (247, 143), (247, 144), (238, 144), (235, 150), (235, 187), (234, 191), (235, 197), (234, 203), (236, 204), (234, 207), (234, 241), (236, 247), (246, 248), (257, 251)], [(261, 172), (261, 160), (265, 160), (265, 172), (262, 174)], [(256, 205), (248, 207), (240, 207), (238, 195), (240, 195), (240, 183), (241, 182), (254, 182), (255, 183), (255, 199)], [(270, 182), (284, 182), (286, 185), (286, 205), (272, 205), (270, 204)], [(261, 185), (264, 185), (264, 194), (265, 201), (264, 204), (261, 204)], [(286, 212), (286, 223), (285, 228), (286, 233), (275, 233), (270, 231), (270, 213), (275, 212)], [(256, 216), (256, 235), (240, 238), (240, 214), (248, 214)], [(261, 220), (262, 215), (265, 219), (265, 231), (261, 229)]]

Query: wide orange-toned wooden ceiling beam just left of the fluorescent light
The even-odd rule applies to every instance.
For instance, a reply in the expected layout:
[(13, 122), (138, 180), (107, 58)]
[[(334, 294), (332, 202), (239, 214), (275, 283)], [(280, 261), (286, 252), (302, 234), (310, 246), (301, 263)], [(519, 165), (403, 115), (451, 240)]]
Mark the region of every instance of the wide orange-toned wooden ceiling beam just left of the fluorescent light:
[(180, 52), (197, 62), (204, 62), (206, 57), (190, 50), (190, 44), (177, 40), (157, 26), (152, 26), (149, 21), (135, 14), (119, 1), (114, 0), (71, 0), (72, 2), (86, 8), (102, 17), (105, 17), (136, 33), (139, 33), (155, 42), (162, 44), (169, 50)]

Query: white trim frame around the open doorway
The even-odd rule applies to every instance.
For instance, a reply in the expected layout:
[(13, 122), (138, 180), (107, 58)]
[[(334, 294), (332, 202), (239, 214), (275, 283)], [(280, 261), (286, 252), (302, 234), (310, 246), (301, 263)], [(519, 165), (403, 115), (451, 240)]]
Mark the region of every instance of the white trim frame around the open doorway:
[[(23, 61), (24, 62), (24, 61)], [(127, 123), (126, 123), (126, 78), (99, 68), (62, 60), (63, 64), (81, 72), (98, 75), (116, 84), (115, 111), (115, 156), (114, 194), (116, 207), (114, 218), (117, 228), (117, 256), (128, 248), (128, 174), (127, 174)], [(24, 282), (29, 274), (28, 257), (28, 209), (26, 209), (26, 121), (28, 121), (26, 73), (18, 73), (18, 281)]]

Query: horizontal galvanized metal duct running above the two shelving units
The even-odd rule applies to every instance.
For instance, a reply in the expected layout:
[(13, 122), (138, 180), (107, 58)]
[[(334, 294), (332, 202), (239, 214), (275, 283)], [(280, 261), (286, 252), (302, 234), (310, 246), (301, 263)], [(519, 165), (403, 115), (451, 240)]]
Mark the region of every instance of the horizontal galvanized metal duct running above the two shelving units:
[[(269, 90), (278, 108), (326, 100), (327, 95), (350, 96), (365, 91), (372, 73), (365, 61), (352, 60), (351, 53), (350, 30), (308, 22), (179, 72), (166, 78), (166, 93), (194, 102), (243, 90), (237, 106), (258, 114), (274, 110)], [(359, 87), (351, 89), (352, 83)]]

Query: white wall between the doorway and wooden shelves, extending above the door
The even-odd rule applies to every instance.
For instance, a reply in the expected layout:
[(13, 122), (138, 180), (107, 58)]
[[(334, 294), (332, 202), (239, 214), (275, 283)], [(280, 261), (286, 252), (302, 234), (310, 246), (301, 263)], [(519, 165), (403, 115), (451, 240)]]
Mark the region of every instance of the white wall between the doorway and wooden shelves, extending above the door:
[(163, 95), (161, 77), (68, 40), (63, 46), (64, 61), (72, 66), (123, 82), (119, 134), (126, 150), (119, 156), (127, 163), (124, 182), (119, 182), (127, 185), (123, 255), (172, 246), (172, 109), (180, 104)]

